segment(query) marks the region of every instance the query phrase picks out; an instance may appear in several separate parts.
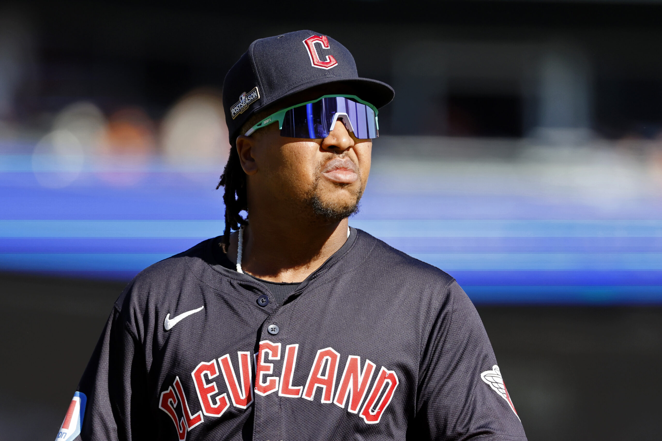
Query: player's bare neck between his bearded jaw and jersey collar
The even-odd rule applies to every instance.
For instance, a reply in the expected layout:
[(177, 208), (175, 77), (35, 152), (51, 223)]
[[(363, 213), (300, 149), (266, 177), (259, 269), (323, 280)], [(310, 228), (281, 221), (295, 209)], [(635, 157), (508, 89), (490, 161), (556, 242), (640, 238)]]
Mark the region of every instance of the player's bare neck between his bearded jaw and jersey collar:
[[(315, 222), (250, 214), (244, 229), (242, 269), (271, 282), (303, 282), (347, 240), (348, 220)], [(228, 258), (236, 262), (238, 234), (230, 237)]]

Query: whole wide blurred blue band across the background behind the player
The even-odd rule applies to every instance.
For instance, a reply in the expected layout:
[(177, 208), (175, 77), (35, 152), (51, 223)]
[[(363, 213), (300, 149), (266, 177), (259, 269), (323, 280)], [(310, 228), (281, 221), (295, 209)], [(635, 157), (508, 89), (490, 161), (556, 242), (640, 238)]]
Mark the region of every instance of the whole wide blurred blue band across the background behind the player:
[[(204, 165), (87, 162), (65, 188), (31, 167), (0, 155), (0, 270), (128, 280), (223, 231), (220, 171)], [(389, 184), (377, 163), (350, 225), (446, 270), (476, 303), (662, 303), (662, 198), (601, 206), (416, 179)]]

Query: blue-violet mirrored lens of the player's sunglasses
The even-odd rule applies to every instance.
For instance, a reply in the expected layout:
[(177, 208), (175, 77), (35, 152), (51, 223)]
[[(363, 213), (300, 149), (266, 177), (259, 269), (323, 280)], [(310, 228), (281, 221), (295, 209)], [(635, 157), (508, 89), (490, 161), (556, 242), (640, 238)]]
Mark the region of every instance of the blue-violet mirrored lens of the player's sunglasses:
[[(339, 114), (338, 118), (349, 120), (354, 136), (359, 140), (379, 136), (374, 110), (342, 97), (323, 98), (288, 110), (285, 112), (281, 136), (309, 140), (326, 138), (333, 129), (332, 122), (336, 113)], [(347, 122), (345, 125), (348, 126)]]

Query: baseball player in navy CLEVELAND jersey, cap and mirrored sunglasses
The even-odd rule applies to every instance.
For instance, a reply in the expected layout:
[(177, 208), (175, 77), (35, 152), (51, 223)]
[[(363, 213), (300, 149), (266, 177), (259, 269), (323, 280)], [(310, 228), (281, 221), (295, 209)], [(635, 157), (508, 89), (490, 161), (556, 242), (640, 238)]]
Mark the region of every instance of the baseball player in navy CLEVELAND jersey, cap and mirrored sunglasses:
[(130, 282), (56, 439), (526, 440), (457, 282), (348, 227), (393, 89), (301, 30), (223, 95), (225, 231)]

